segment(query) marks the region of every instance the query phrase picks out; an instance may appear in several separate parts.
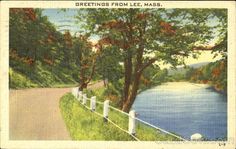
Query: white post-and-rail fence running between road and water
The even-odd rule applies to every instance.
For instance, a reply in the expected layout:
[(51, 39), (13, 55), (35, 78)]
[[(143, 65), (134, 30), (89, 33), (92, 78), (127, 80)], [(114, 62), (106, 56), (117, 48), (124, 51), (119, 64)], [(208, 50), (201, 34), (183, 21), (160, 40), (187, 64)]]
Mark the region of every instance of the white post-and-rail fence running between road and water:
[[(76, 97), (76, 99), (79, 100), (79, 102), (80, 102), (85, 108), (87, 108), (87, 109), (93, 111), (94, 113), (96, 113), (97, 115), (103, 117), (105, 121), (110, 122), (111, 124), (115, 125), (117, 128), (121, 129), (122, 131), (124, 131), (124, 132), (130, 134), (130, 135), (131, 135), (135, 140), (137, 140), (137, 141), (140, 141), (140, 139), (138, 139), (138, 138), (136, 137), (136, 120), (139, 121), (139, 122), (141, 122), (141, 123), (143, 123), (143, 124), (146, 124), (146, 125), (148, 125), (148, 126), (154, 128), (154, 129), (156, 129), (156, 130), (158, 130), (158, 131), (161, 131), (161, 132), (163, 132), (163, 133), (165, 133), (165, 134), (168, 134), (168, 135), (170, 135), (170, 136), (172, 136), (172, 137), (178, 138), (179, 140), (188, 141), (188, 140), (186, 140), (186, 139), (184, 139), (184, 138), (182, 138), (182, 137), (180, 137), (180, 136), (178, 136), (178, 135), (176, 135), (176, 134), (173, 134), (173, 133), (171, 133), (171, 132), (168, 132), (168, 131), (166, 131), (166, 130), (164, 130), (164, 129), (162, 129), (162, 128), (159, 128), (159, 127), (157, 127), (157, 126), (154, 126), (154, 125), (152, 125), (152, 124), (150, 124), (150, 123), (148, 123), (148, 122), (145, 122), (145, 121), (143, 121), (143, 120), (137, 118), (137, 117), (136, 117), (135, 110), (131, 110), (129, 113), (126, 113), (126, 112), (121, 111), (121, 110), (119, 110), (119, 109), (117, 109), (117, 108), (115, 108), (115, 107), (110, 106), (110, 105), (109, 105), (109, 100), (106, 100), (106, 101), (104, 101), (104, 102), (99, 102), (99, 101), (96, 101), (96, 96), (93, 96), (93, 97), (91, 97), (91, 98), (88, 98), (87, 95), (84, 94), (83, 92), (79, 91), (77, 87), (76, 87), (76, 88), (72, 88), (72, 94)], [(88, 101), (88, 100), (90, 101), (90, 105), (89, 105), (89, 106), (87, 105), (87, 101)], [(96, 104), (103, 105), (103, 114), (98, 113), (98, 112), (96, 111)], [(110, 109), (115, 110), (115, 111), (117, 111), (117, 112), (120, 112), (120, 113), (122, 113), (122, 114), (128, 116), (128, 118), (129, 118), (129, 122), (128, 122), (128, 124), (127, 124), (127, 125), (128, 125), (128, 130), (126, 130), (126, 129), (120, 127), (120, 126), (117, 125), (114, 121), (112, 121), (111, 119), (108, 118), (109, 110), (110, 110)], [(191, 140), (192, 140), (192, 141), (201, 141), (201, 140), (202, 140), (202, 136), (201, 136), (201, 134), (196, 133), (196, 134), (194, 134), (194, 135), (191, 136)]]

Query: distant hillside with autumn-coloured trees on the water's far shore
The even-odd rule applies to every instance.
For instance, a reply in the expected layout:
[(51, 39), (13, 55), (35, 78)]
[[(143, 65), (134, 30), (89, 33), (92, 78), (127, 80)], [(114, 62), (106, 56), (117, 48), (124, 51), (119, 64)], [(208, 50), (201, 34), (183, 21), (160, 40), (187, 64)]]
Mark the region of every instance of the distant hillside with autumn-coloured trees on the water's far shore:
[(227, 59), (204, 62), (168, 70), (168, 81), (190, 81), (211, 85), (220, 93), (227, 93)]

